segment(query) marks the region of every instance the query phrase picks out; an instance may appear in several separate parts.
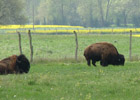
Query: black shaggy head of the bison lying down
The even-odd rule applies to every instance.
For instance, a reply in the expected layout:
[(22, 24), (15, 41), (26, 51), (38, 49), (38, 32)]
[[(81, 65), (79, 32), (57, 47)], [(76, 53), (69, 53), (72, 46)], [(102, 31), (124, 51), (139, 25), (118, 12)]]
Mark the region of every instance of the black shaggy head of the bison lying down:
[(30, 69), (30, 63), (25, 55), (21, 54), (16, 60), (16, 71), (18, 73), (28, 73)]

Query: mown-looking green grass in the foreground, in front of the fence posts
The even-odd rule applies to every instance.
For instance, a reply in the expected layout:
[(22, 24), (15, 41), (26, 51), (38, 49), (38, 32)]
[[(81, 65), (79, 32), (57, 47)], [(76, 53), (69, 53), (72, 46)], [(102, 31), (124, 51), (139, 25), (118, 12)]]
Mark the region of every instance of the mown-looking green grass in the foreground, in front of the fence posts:
[(139, 62), (88, 67), (86, 63), (32, 64), (28, 74), (1, 75), (0, 100), (138, 100)]

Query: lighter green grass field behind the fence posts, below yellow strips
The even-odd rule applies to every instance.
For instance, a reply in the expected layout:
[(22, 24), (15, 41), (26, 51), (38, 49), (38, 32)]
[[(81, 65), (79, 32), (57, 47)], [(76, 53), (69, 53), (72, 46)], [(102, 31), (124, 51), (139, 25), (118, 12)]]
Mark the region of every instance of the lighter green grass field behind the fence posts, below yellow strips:
[[(84, 59), (84, 49), (96, 42), (106, 41), (114, 44), (118, 52), (129, 58), (129, 35), (79, 35), (78, 34), (78, 58)], [(139, 60), (140, 39), (132, 38), (132, 56)], [(32, 35), (34, 60), (40, 59), (74, 59), (75, 37), (73, 35)], [(18, 35), (0, 35), (0, 59), (12, 54), (19, 54)], [(23, 53), (30, 58), (30, 46), (28, 35), (22, 35)]]

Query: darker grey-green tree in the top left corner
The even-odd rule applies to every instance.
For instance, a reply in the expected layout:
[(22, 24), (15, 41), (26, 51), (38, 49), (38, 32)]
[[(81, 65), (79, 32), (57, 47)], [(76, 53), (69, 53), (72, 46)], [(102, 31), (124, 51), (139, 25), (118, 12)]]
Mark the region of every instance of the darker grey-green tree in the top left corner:
[(22, 5), (21, 0), (0, 0), (0, 24), (25, 24), (27, 19)]

